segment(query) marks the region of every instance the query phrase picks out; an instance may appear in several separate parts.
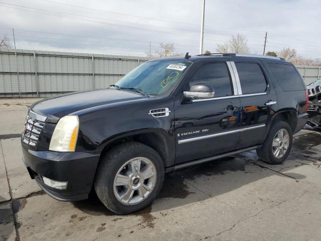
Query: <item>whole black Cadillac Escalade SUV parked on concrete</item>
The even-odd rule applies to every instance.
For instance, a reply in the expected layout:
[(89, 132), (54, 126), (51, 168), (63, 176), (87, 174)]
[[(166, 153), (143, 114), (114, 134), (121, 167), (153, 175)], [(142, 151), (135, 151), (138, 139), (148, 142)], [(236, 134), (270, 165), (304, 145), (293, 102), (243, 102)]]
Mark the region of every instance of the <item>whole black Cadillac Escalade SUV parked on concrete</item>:
[(130, 213), (154, 200), (167, 172), (253, 149), (282, 163), (307, 121), (307, 103), (301, 76), (281, 58), (151, 60), (109, 88), (33, 104), (24, 163), (57, 200), (95, 190), (113, 212)]

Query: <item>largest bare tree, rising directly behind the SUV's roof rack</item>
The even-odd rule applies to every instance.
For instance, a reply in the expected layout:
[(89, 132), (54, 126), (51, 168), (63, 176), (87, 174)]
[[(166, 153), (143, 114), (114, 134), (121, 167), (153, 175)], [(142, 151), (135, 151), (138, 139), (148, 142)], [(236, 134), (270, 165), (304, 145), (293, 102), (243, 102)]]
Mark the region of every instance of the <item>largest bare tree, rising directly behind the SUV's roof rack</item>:
[(249, 53), (247, 38), (243, 35), (233, 35), (230, 40), (224, 44), (218, 44), (216, 51), (218, 53)]

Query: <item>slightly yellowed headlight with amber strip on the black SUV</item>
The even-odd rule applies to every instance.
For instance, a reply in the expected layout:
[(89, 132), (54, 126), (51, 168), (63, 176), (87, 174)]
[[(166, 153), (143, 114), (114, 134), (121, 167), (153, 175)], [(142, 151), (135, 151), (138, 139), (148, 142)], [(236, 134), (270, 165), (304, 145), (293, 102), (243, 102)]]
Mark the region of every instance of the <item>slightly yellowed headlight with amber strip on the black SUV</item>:
[(66, 115), (59, 119), (52, 134), (50, 151), (74, 152), (78, 137), (79, 119), (77, 115)]

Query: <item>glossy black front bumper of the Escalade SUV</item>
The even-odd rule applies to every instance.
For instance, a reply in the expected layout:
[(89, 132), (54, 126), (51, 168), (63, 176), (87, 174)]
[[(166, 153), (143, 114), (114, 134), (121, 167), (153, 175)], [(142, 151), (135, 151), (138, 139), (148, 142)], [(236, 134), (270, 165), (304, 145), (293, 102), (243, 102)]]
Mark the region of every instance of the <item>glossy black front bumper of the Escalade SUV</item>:
[[(59, 201), (88, 198), (99, 161), (99, 152), (37, 152), (25, 147), (22, 150), (23, 161), (31, 178), (51, 197)], [(67, 188), (60, 190), (47, 186), (42, 176), (68, 182)]]

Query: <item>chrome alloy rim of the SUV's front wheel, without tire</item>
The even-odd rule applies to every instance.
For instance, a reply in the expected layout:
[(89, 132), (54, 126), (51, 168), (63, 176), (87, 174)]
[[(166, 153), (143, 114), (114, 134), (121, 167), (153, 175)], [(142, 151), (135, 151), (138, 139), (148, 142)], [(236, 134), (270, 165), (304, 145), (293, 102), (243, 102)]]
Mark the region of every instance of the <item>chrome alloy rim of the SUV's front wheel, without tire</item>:
[(156, 183), (156, 168), (145, 157), (135, 157), (118, 170), (114, 179), (114, 194), (121, 203), (135, 205), (145, 200)]

